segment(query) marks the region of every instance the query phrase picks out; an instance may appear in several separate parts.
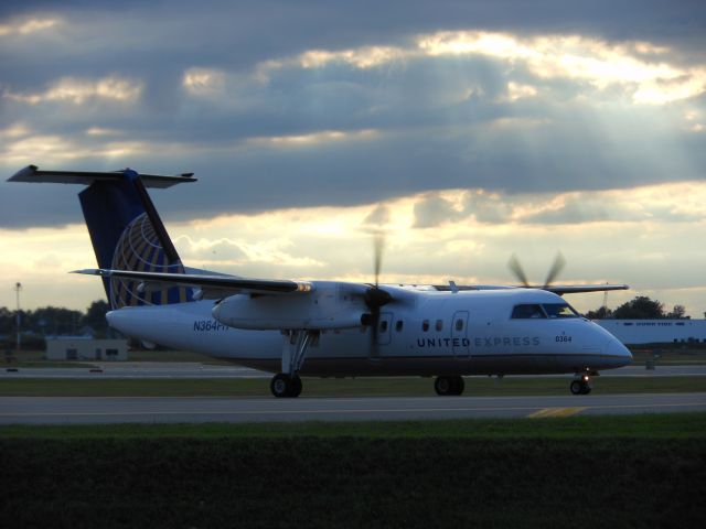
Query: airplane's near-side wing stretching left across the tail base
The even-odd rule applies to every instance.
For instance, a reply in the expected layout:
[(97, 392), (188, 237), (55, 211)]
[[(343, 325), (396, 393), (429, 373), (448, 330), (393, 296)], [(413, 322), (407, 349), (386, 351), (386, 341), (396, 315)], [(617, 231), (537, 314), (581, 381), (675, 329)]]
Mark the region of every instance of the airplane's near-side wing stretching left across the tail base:
[(74, 270), (72, 273), (87, 276), (100, 276), (103, 278), (122, 278), (132, 281), (141, 281), (146, 285), (156, 283), (160, 285), (194, 287), (211, 293), (221, 295), (244, 294), (291, 294), (303, 293), (312, 290), (312, 284), (307, 281), (288, 281), (272, 279), (244, 279), (235, 276), (212, 276), (200, 273), (160, 273), (138, 272), (131, 270), (86, 269)]

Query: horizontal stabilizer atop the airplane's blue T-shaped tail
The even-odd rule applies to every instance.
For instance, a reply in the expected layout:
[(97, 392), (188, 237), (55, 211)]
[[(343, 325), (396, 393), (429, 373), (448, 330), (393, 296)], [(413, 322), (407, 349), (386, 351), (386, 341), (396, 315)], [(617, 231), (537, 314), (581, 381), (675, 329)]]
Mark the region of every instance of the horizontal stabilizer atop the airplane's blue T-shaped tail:
[[(128, 170), (126, 170), (128, 171)], [(183, 173), (173, 176), (161, 174), (139, 174), (145, 187), (167, 188), (184, 182), (195, 182), (194, 173)], [(18, 171), (8, 182), (29, 182), (40, 184), (83, 184), (90, 185), (94, 182), (120, 181), (124, 171), (40, 171), (36, 165), (28, 165)]]

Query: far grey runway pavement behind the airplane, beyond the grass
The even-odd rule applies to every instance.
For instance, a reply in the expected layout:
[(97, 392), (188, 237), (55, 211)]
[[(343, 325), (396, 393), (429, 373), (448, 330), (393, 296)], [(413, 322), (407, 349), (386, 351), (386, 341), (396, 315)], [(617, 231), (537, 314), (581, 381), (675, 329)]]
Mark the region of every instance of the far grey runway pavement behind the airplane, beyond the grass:
[[(0, 369), (4, 378), (270, 378), (272, 374), (248, 367), (199, 363), (126, 361), (94, 364), (99, 370), (86, 367), (29, 367), (17, 371)], [(706, 365), (627, 366), (601, 371), (601, 377), (705, 377)], [(517, 375), (514, 375), (517, 377)], [(528, 375), (537, 378), (537, 375)], [(542, 375), (542, 377), (574, 378), (573, 374)]]

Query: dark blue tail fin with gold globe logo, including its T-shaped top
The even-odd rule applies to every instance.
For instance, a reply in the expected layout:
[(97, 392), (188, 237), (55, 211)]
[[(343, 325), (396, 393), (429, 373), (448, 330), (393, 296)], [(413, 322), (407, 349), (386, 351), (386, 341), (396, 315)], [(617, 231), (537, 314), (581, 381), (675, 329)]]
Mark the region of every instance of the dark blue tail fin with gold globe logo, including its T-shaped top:
[[(114, 270), (184, 273), (184, 267), (146, 187), (169, 187), (193, 182), (191, 174), (160, 176), (126, 169), (114, 173), (39, 171), (30, 165), (10, 182), (86, 184), (78, 194), (98, 266)], [(181, 303), (192, 289), (147, 290), (137, 281), (104, 278), (113, 309), (126, 305)]]

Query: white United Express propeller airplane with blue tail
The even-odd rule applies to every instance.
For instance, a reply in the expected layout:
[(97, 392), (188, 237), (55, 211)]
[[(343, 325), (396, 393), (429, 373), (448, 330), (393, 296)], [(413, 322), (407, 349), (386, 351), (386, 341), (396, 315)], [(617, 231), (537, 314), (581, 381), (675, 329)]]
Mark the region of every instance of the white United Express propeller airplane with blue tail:
[(193, 173), (40, 171), (9, 182), (82, 184), (78, 193), (98, 261), (75, 273), (101, 278), (111, 327), (143, 344), (193, 350), (275, 374), (270, 391), (298, 397), (301, 377), (434, 377), (440, 396), (466, 376), (575, 374), (574, 395), (631, 353), (582, 317), (566, 293), (624, 284), (521, 287), (379, 284), (382, 239), (371, 283), (249, 279), (185, 267), (147, 188), (195, 182)]

